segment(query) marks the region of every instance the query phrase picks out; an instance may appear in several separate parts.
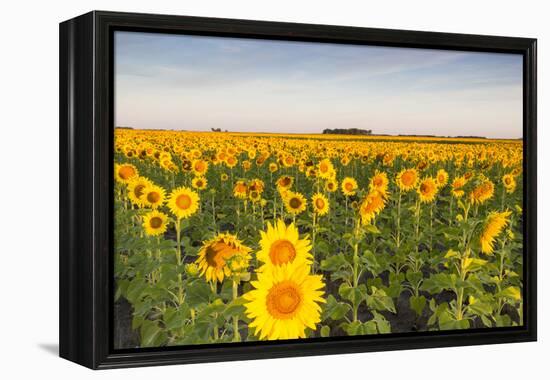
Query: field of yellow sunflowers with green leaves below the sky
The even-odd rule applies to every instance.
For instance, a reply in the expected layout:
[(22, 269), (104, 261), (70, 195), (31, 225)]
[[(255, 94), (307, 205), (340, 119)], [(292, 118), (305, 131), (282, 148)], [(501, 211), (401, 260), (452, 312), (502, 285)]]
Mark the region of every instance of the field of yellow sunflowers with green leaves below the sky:
[(522, 156), (117, 128), (115, 348), (521, 325)]

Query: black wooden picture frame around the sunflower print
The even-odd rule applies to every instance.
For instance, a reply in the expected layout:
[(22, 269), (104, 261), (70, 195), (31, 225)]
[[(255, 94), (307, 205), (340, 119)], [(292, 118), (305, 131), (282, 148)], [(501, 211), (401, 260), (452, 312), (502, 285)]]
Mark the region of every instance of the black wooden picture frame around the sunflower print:
[[(116, 351), (113, 32), (132, 30), (523, 56), (524, 326)], [(93, 369), (535, 341), (536, 39), (93, 11), (60, 24), (60, 356)]]

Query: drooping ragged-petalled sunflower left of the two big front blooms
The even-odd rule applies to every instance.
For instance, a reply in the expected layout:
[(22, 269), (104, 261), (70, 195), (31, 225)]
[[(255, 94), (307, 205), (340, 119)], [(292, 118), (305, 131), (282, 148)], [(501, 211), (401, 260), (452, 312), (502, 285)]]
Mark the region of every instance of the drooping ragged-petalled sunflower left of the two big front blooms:
[(235, 235), (223, 233), (203, 242), (195, 263), (206, 281), (222, 282), (225, 277), (245, 272), (250, 258), (250, 248)]

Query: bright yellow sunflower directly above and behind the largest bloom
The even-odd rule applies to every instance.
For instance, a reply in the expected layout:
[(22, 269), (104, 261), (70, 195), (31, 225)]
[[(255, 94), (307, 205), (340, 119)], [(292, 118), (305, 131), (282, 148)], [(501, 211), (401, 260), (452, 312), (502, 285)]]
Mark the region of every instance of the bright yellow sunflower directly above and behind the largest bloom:
[(267, 223), (267, 231), (260, 231), (260, 250), (256, 258), (264, 266), (279, 266), (288, 263), (310, 263), (312, 255), (309, 239), (300, 239), (298, 228), (282, 219), (273, 226)]

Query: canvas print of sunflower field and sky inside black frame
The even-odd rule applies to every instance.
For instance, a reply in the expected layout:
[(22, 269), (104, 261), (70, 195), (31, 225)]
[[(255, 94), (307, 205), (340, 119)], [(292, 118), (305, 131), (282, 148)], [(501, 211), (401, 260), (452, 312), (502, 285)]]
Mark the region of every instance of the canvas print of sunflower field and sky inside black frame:
[(522, 56), (114, 36), (115, 349), (523, 324)]

